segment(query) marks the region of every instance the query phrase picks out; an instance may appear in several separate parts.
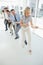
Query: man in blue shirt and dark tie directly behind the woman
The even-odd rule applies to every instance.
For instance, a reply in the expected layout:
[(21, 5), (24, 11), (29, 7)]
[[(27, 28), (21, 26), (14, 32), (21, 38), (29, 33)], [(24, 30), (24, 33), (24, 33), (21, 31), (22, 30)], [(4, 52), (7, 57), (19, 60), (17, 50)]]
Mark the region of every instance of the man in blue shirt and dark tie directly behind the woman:
[(18, 32), (20, 30), (20, 25), (19, 25), (20, 15), (17, 14), (14, 9), (11, 9), (11, 14), (12, 14), (13, 28), (14, 28), (15, 35), (16, 35), (15, 39), (18, 39), (19, 38)]

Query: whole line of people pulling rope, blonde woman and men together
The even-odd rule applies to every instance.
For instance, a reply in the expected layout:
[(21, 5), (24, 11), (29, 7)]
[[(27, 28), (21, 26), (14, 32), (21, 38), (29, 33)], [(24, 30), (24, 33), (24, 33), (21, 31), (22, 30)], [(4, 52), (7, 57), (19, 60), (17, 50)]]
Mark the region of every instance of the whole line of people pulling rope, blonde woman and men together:
[(24, 14), (20, 17), (19, 14), (16, 13), (14, 9), (10, 11), (8, 8), (4, 8), (2, 11), (4, 13), (4, 23), (5, 23), (5, 31), (10, 30), (10, 33), (13, 35), (13, 29), (15, 32), (15, 39), (19, 38), (18, 32), (21, 29), (21, 44), (24, 47), (25, 44), (28, 47), (28, 52), (32, 52), (31, 50), (31, 31), (29, 26), (32, 28), (38, 28), (34, 26), (32, 23), (31, 11), (29, 7), (26, 7), (24, 10)]

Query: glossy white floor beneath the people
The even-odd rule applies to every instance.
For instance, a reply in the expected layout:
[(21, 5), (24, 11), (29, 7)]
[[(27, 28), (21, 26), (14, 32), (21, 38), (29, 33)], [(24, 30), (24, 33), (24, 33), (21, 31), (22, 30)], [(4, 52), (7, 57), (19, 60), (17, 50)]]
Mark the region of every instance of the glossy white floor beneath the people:
[[(1, 22), (1, 21), (0, 21)], [(0, 65), (43, 65), (43, 38), (32, 32), (32, 55), (0, 26)]]

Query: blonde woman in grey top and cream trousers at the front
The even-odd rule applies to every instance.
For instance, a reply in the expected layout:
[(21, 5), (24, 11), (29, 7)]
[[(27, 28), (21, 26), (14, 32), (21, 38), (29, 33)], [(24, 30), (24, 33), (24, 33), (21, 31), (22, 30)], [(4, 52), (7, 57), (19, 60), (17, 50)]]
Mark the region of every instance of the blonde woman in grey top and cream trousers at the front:
[(31, 50), (31, 31), (30, 31), (30, 26), (32, 28), (38, 28), (38, 26), (34, 26), (32, 23), (32, 17), (31, 17), (31, 13), (30, 13), (30, 8), (26, 7), (24, 10), (24, 15), (20, 20), (20, 26), (21, 26), (21, 44), (22, 47), (25, 46), (24, 44), (24, 40), (26, 39), (27, 41), (27, 48), (28, 48), (28, 52), (32, 52)]

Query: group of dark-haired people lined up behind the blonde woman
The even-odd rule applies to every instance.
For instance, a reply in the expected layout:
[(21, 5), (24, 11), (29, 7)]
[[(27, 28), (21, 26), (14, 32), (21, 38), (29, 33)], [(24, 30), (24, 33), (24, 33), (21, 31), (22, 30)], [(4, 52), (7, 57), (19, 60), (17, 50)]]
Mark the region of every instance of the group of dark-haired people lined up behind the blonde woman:
[(11, 9), (11, 11), (8, 10), (8, 8), (4, 8), (4, 24), (5, 24), (5, 31), (10, 30), (10, 33), (13, 35), (13, 29), (15, 31), (15, 39), (18, 39), (18, 31), (20, 29), (20, 15), (15, 12), (14, 9)]

